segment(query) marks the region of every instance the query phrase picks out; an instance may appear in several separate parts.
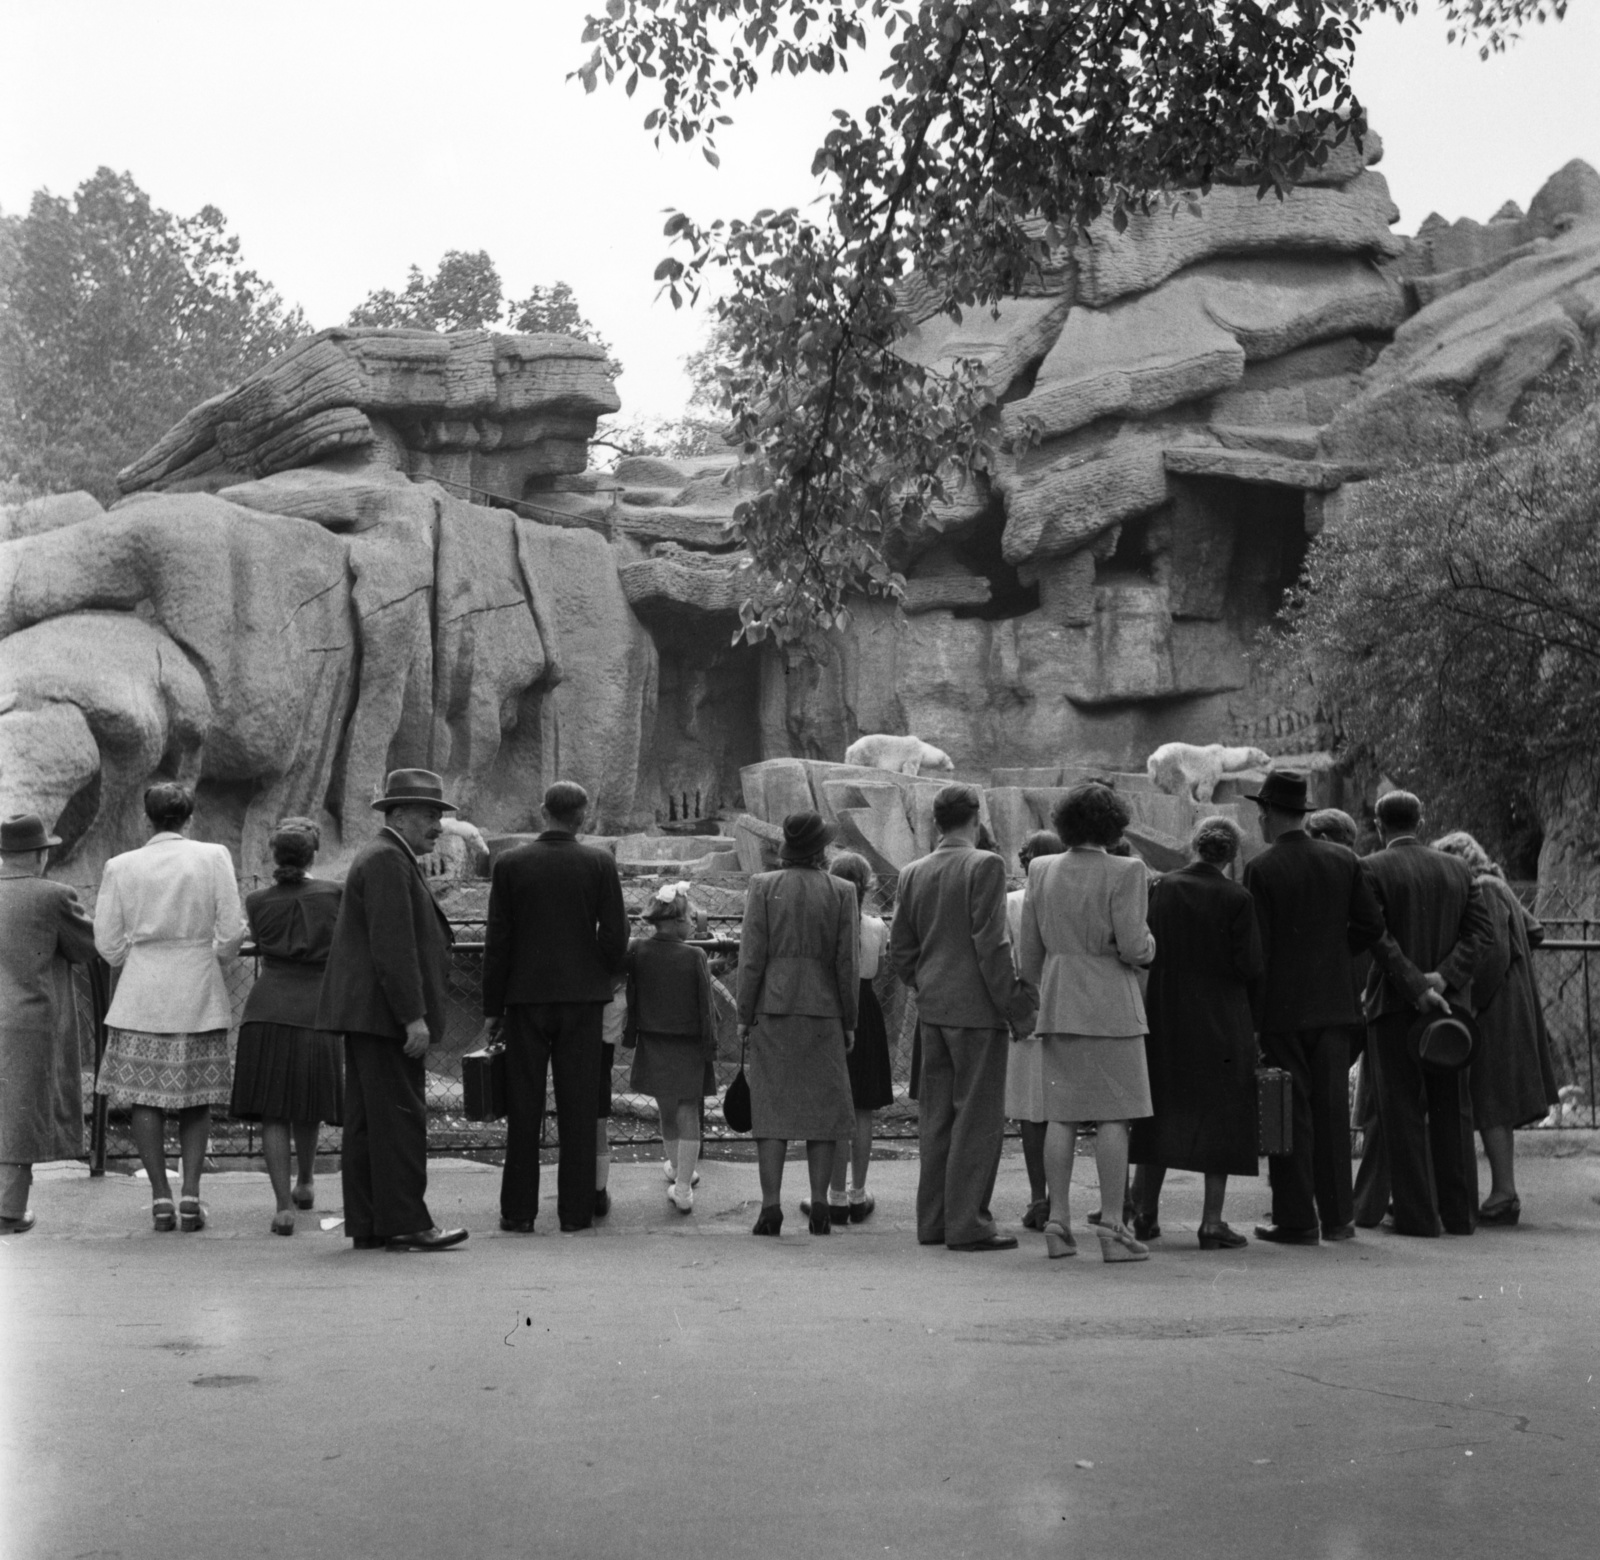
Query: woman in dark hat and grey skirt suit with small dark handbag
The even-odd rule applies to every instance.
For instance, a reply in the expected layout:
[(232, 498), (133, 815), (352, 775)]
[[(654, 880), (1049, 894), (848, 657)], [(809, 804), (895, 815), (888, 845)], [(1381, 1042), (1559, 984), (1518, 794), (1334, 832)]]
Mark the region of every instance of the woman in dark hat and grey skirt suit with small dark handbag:
[(750, 878), (739, 934), (739, 1037), (750, 1043), (750, 1115), (762, 1174), (755, 1235), (784, 1222), (784, 1154), (805, 1138), (811, 1234), (827, 1235), (834, 1144), (856, 1128), (846, 1053), (859, 1000), (856, 891), (824, 866), (834, 830), (784, 819), (782, 866)]

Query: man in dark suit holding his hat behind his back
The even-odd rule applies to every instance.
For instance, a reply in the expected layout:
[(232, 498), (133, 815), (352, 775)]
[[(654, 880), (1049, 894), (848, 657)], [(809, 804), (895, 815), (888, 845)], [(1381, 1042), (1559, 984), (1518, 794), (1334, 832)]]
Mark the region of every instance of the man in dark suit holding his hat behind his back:
[[(1429, 997), (1472, 1010), (1472, 970), (1493, 922), (1472, 869), (1418, 838), (1422, 803), (1408, 790), (1378, 798), (1384, 848), (1366, 872), (1389, 933)], [(1437, 995), (1435, 995), (1437, 994)], [(1427, 998), (1422, 998), (1427, 1000)], [(1374, 970), (1366, 986), (1368, 1056), (1378, 1085), (1378, 1123), (1389, 1160), (1394, 1229), (1400, 1235), (1470, 1235), (1478, 1219), (1478, 1158), (1472, 1142), (1467, 1072), (1435, 1072), (1411, 1042), (1416, 984)]]

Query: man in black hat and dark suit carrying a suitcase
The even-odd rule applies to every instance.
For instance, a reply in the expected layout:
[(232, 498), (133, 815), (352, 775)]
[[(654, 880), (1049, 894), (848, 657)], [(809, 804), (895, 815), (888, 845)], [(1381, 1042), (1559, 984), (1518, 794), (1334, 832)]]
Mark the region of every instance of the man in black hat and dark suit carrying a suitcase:
[(1274, 770), (1251, 800), (1267, 838), (1245, 867), (1267, 968), (1261, 1050), (1293, 1078), (1293, 1152), (1269, 1160), (1272, 1222), (1256, 1238), (1315, 1246), (1355, 1234), (1349, 1075), (1362, 1011), (1350, 957), (1384, 957), (1384, 917), (1355, 853), (1306, 832), (1304, 774)]

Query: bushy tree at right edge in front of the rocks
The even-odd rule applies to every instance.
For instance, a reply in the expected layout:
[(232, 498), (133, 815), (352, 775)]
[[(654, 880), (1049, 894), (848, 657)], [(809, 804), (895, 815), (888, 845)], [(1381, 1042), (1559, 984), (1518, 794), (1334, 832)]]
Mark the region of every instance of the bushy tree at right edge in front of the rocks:
[(1347, 741), (1528, 862), (1600, 786), (1600, 368), (1448, 466), (1368, 482), (1312, 546), (1283, 651)]

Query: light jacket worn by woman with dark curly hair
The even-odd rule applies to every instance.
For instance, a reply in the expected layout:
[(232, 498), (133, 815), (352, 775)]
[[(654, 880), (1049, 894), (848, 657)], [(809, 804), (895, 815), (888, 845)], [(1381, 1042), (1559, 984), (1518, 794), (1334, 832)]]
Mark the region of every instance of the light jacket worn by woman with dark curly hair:
[(1136, 970), (1155, 958), (1149, 878), (1133, 856), (1075, 846), (1040, 856), (1022, 898), (1022, 978), (1038, 987), (1042, 1035), (1142, 1035)]

